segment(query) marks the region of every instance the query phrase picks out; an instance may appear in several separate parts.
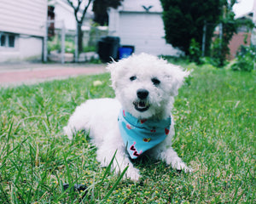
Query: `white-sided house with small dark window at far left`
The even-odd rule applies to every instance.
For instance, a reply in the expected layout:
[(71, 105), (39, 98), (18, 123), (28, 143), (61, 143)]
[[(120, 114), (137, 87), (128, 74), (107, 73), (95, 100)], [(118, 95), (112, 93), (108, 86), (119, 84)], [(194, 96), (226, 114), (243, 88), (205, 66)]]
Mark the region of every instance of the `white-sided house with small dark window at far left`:
[(0, 1), (0, 62), (42, 59), (47, 0)]

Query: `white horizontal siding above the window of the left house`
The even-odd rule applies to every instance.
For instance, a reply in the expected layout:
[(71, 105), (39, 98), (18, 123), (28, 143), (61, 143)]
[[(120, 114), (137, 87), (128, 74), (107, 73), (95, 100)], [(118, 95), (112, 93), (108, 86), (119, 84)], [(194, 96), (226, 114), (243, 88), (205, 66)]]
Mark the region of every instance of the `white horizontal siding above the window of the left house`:
[(44, 37), (46, 0), (1, 0), (0, 31)]

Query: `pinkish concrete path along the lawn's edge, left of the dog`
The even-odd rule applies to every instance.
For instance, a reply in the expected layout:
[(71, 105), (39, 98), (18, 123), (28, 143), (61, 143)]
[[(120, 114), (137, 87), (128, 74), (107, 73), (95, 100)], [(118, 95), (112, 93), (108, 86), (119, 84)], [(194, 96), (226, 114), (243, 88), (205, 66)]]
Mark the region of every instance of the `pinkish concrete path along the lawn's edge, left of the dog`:
[(0, 86), (18, 86), (106, 71), (105, 64), (0, 64)]

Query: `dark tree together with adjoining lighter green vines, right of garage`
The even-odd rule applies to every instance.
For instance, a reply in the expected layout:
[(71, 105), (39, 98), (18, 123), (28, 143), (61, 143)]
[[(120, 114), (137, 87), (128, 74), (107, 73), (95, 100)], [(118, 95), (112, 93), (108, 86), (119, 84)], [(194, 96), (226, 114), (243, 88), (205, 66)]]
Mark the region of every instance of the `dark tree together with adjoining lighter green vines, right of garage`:
[[(237, 28), (241, 25), (253, 28), (252, 20), (235, 20), (232, 8), (236, 0), (161, 0), (161, 3), (166, 42), (180, 48), (197, 63), (201, 60), (199, 51), (204, 26), (207, 26), (205, 55), (212, 54), (212, 62), (218, 67), (225, 64), (226, 56), (230, 53), (228, 45)], [(211, 47), (213, 31), (220, 23), (222, 34), (214, 37)]]

